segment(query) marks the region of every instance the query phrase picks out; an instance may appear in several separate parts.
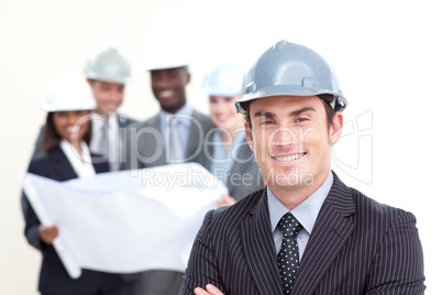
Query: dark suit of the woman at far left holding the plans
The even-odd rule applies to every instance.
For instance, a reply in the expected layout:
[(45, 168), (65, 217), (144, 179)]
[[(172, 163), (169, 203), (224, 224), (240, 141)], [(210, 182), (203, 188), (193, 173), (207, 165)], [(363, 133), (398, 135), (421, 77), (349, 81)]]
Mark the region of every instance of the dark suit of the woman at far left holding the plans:
[[(96, 163), (93, 167), (97, 173), (109, 171), (107, 162)], [(59, 148), (36, 155), (31, 161), (27, 172), (59, 182), (78, 177)], [(24, 194), (22, 194), (22, 209), (25, 219), (24, 234), (29, 243), (38, 249), (43, 254), (38, 283), (40, 292), (43, 294), (64, 295), (98, 294), (99, 291), (118, 292), (121, 284), (121, 278), (118, 274), (82, 270), (79, 278), (70, 278), (54, 247), (45, 244), (40, 239), (38, 226), (41, 223)]]

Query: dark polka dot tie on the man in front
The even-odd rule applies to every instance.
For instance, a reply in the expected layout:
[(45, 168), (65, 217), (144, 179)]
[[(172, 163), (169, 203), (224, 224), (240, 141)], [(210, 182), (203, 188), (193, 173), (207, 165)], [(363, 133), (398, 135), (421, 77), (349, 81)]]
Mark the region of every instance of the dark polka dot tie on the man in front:
[(278, 269), (283, 283), (283, 293), (290, 294), (294, 287), (295, 274), (299, 267), (299, 251), (296, 236), (302, 229), (301, 223), (287, 212), (278, 223), (283, 231), (283, 244), (278, 254)]

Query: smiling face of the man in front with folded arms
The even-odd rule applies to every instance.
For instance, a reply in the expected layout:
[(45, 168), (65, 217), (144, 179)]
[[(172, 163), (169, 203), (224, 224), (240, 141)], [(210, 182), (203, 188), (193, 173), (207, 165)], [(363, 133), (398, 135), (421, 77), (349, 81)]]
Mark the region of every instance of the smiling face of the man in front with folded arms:
[(245, 124), (246, 135), (273, 193), (319, 187), (327, 178), (342, 114), (338, 112), (329, 128), (323, 103), (317, 96), (275, 96), (251, 102), (252, 127)]

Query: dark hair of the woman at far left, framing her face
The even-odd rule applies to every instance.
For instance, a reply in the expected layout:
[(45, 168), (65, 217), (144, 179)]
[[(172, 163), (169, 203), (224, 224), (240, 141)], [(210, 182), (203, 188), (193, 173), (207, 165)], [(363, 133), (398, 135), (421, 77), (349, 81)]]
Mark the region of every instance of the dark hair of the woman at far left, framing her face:
[[(92, 138), (92, 121), (88, 121), (88, 130), (85, 133), (82, 140), (89, 145), (90, 139)], [(59, 146), (62, 136), (58, 134), (54, 124), (54, 112), (48, 112), (46, 116), (46, 124), (43, 129), (43, 141), (38, 150), (40, 154), (46, 153)]]

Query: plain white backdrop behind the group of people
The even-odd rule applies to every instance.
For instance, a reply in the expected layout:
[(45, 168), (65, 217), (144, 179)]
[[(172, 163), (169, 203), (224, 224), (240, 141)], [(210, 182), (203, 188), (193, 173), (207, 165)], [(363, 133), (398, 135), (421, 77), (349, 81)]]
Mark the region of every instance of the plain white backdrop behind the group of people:
[(199, 87), (208, 65), (218, 59), (250, 64), (280, 39), (325, 57), (350, 102), (334, 170), (347, 185), (416, 215), (427, 294), (438, 294), (442, 277), (438, 2), (0, 0), (0, 294), (36, 294), (41, 256), (23, 236), (19, 175), (27, 167), (45, 118), (40, 103), (47, 80), (65, 69), (82, 74), (91, 50), (113, 43), (132, 65), (122, 112), (144, 120), (158, 110), (141, 67), (146, 42), (158, 34), (179, 35), (190, 46), (188, 101), (206, 113), (208, 100)]

